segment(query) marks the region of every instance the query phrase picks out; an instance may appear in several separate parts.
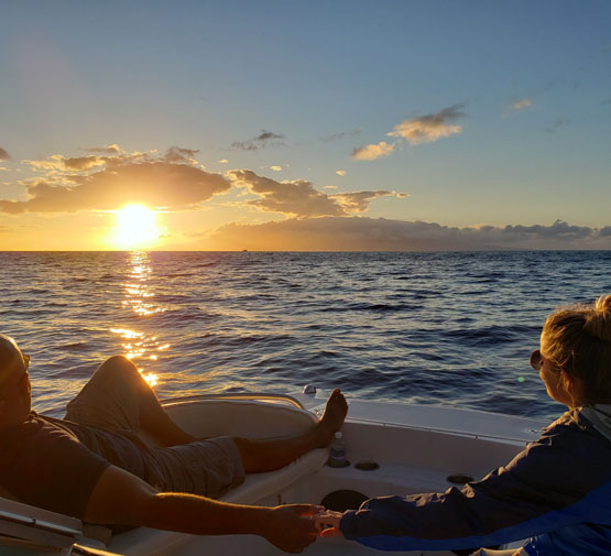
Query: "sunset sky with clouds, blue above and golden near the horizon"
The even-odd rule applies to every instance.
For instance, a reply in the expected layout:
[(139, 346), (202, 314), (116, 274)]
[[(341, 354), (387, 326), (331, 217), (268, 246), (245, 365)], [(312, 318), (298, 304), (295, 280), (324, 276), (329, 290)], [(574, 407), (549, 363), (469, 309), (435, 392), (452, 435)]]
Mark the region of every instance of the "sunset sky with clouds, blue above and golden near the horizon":
[(0, 4), (0, 250), (611, 249), (605, 0)]

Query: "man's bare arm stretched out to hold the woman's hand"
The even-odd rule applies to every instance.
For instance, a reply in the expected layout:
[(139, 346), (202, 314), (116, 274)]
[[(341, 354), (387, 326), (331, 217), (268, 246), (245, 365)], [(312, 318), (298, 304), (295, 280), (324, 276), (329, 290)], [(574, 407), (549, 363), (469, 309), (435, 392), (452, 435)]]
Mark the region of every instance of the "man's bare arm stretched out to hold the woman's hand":
[(286, 552), (302, 552), (316, 539), (315, 505), (263, 508), (227, 504), (204, 497), (157, 492), (138, 477), (111, 466), (100, 476), (85, 521), (178, 531), (196, 535), (260, 535)]

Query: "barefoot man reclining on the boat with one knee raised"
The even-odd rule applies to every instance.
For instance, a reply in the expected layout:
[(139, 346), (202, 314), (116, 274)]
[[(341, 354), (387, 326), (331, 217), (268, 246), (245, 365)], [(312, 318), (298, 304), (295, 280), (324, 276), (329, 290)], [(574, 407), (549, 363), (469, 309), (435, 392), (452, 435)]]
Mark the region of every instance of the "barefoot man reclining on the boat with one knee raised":
[[(318, 506), (248, 506), (210, 497), (239, 484), (244, 472), (279, 469), (327, 446), (348, 410), (339, 390), (305, 434), (196, 439), (170, 419), (124, 357), (98, 368), (68, 404), (66, 419), (31, 411), (29, 363), (15, 341), (0, 335), (0, 487), (18, 500), (89, 523), (254, 534), (286, 552), (316, 539)], [(157, 446), (144, 444), (139, 430)]]

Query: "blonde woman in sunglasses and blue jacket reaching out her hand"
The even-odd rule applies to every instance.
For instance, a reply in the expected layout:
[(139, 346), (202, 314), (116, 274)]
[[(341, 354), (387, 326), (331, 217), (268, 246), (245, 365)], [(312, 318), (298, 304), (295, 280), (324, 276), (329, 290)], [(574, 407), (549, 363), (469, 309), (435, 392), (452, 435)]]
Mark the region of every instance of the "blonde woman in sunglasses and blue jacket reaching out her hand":
[(506, 467), (462, 490), (384, 497), (317, 517), (323, 536), (386, 550), (611, 555), (611, 295), (552, 314), (531, 364), (569, 411)]

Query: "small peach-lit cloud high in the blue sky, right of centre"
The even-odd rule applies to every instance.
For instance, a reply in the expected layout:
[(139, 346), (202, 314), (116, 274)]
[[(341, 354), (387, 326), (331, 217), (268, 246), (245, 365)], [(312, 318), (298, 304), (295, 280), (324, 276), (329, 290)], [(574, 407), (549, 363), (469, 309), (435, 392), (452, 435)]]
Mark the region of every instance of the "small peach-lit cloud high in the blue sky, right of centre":
[(410, 143), (416, 145), (432, 143), (460, 133), (462, 128), (452, 123), (465, 117), (465, 112), (460, 111), (461, 108), (463, 108), (463, 105), (454, 105), (439, 110), (437, 113), (417, 116), (416, 118), (404, 120), (386, 134), (389, 137), (406, 139)]

